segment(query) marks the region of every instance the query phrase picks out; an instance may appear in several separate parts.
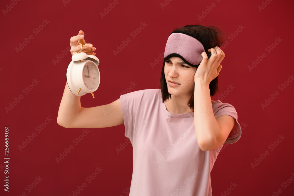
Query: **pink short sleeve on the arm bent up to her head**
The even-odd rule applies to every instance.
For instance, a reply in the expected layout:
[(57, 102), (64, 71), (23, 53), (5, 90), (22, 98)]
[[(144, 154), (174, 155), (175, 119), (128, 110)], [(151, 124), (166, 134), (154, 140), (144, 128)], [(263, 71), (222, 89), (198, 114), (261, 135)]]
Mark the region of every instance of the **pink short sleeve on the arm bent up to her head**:
[(228, 136), (227, 140), (225, 140), (224, 144), (236, 143), (240, 139), (241, 132), (242, 132), (241, 126), (238, 123), (238, 114), (237, 114), (235, 108), (233, 107), (233, 105), (230, 105), (228, 103), (221, 103), (221, 102), (218, 103), (217, 105), (218, 105), (218, 107), (214, 111), (214, 116), (216, 118), (218, 118), (221, 115), (230, 115), (236, 120), (235, 125), (234, 125), (230, 135)]

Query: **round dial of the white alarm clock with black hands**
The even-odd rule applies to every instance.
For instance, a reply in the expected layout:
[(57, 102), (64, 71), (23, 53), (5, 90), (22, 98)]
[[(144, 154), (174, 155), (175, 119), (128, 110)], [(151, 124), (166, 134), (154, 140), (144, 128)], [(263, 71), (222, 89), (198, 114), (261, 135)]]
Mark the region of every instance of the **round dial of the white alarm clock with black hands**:
[(94, 63), (87, 62), (83, 67), (83, 82), (90, 91), (94, 91), (99, 85), (99, 71)]

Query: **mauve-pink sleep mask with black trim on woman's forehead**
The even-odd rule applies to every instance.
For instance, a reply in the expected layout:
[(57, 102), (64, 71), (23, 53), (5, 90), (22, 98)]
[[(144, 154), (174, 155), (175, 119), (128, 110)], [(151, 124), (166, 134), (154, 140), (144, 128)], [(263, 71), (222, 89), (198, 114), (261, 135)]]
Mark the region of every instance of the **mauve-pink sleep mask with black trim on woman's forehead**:
[[(164, 60), (177, 56), (190, 66), (199, 66), (202, 61), (201, 53), (205, 52), (204, 47), (193, 35), (183, 31), (173, 31), (166, 42)], [(208, 58), (211, 53), (208, 53)]]

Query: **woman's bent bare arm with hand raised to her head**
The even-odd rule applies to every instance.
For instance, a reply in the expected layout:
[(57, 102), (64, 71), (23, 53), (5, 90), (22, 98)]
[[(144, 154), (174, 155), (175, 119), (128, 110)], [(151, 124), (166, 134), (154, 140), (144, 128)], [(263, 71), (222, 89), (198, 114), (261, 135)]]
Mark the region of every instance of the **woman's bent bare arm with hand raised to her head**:
[(219, 47), (208, 51), (211, 51), (211, 57), (207, 59), (205, 52), (201, 54), (203, 60), (194, 76), (194, 125), (198, 145), (203, 151), (221, 146), (235, 123), (229, 115), (216, 119), (213, 114), (209, 83), (218, 76), (225, 54)]

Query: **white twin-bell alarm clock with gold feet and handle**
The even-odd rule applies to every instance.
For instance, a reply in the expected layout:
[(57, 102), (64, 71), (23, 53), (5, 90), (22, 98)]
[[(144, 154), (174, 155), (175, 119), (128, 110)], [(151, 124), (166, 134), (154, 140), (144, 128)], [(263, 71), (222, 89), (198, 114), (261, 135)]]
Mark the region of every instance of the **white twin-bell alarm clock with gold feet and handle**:
[(91, 93), (95, 98), (93, 92), (100, 84), (99, 59), (92, 54), (92, 48), (90, 55), (81, 52), (85, 44), (83, 43), (81, 50), (71, 57), (72, 61), (67, 68), (66, 80), (74, 95), (83, 96)]

